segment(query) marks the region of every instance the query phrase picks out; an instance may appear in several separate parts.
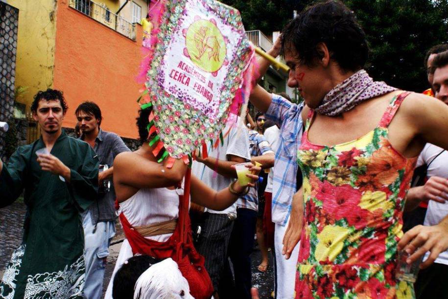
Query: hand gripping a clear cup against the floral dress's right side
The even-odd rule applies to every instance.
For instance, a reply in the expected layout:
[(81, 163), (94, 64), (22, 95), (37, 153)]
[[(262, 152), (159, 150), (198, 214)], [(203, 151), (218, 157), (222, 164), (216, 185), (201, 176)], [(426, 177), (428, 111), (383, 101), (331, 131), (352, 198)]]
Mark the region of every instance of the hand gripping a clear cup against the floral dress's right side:
[(418, 225), (403, 235), (398, 250), (405, 250), (410, 256), (406, 260), (411, 264), (430, 252), (428, 258), (420, 264), (420, 269), (431, 265), (439, 254), (448, 249), (448, 216), (433, 226)]

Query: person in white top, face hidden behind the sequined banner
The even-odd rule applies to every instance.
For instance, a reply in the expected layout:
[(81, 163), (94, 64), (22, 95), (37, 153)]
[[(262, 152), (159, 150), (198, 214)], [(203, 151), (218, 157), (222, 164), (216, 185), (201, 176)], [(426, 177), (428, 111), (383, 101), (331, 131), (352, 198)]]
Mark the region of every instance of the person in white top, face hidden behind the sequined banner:
[[(154, 156), (154, 146), (149, 146), (147, 126), (151, 109), (140, 110), (137, 119), (141, 147), (134, 152), (122, 152), (114, 160), (114, 185), (119, 203), (120, 221), (146, 239), (164, 244), (176, 230), (179, 217), (180, 195), (183, 193), (184, 176), (188, 165), (176, 160), (171, 168), (165, 163), (158, 163)], [(252, 174), (247, 174), (252, 181), (258, 180), (259, 167), (249, 165)], [(235, 170), (234, 170), (235, 171)], [(213, 210), (225, 210), (241, 195), (247, 193), (254, 183), (242, 187), (238, 181), (227, 188), (214, 191), (194, 175), (191, 176), (191, 202)], [(122, 215), (122, 216), (121, 216)], [(124, 217), (123, 217), (124, 216)], [(125, 219), (126, 223), (123, 223)], [(114, 273), (106, 291), (105, 298), (112, 298), (114, 275), (121, 265), (134, 255), (136, 240), (125, 239), (121, 246)], [(157, 256), (157, 246), (145, 253)], [(190, 288), (192, 286), (190, 285)]]

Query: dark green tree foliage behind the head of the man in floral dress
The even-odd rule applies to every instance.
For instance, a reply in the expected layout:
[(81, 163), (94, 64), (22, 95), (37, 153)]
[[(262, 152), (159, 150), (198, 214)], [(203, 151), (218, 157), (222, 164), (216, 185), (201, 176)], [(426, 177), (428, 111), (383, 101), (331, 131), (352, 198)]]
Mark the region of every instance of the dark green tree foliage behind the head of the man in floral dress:
[[(237, 8), (246, 30), (266, 34), (281, 31), (310, 0), (222, 0)], [(448, 0), (343, 0), (356, 14), (367, 34), (371, 55), (367, 70), (406, 90), (428, 86), (424, 67), (426, 51), (448, 42)]]

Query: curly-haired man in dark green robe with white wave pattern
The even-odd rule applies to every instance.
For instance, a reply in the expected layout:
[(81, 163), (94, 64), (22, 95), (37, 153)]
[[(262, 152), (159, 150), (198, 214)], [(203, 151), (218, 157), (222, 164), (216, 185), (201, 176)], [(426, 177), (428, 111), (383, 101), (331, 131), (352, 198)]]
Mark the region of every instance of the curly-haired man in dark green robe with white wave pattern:
[(98, 159), (91, 147), (62, 130), (67, 104), (61, 91), (34, 96), (42, 135), (0, 161), (0, 208), (24, 190), (22, 245), (0, 282), (0, 298), (82, 298), (85, 266), (80, 212), (97, 197)]

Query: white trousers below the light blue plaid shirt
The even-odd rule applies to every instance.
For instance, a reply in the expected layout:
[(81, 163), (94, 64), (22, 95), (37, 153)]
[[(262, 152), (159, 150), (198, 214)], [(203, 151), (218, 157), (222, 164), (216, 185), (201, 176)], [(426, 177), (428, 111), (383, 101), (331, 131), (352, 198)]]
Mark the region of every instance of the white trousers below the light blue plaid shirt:
[[(288, 219), (289, 223), (289, 219)], [(297, 259), (299, 258), (300, 241), (291, 253), (289, 259), (285, 259), (282, 255), (283, 236), (288, 227), (275, 224), (274, 246), (275, 246), (275, 298), (277, 299), (293, 299), (294, 286), (296, 282)]]

